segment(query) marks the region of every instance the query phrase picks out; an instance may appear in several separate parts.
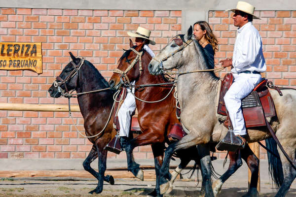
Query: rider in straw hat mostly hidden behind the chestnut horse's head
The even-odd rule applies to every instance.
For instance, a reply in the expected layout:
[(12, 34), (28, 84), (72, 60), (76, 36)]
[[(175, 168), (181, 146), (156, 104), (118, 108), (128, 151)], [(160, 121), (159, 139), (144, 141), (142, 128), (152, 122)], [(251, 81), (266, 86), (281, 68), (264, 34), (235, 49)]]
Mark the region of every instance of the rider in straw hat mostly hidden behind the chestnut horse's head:
[[(135, 42), (137, 46), (144, 42), (145, 43), (144, 50), (148, 52), (148, 54), (153, 58), (154, 53), (148, 47), (148, 44), (154, 45), (155, 42), (149, 39), (150, 33), (151, 32), (149, 30), (142, 27), (138, 27), (136, 33), (128, 32), (127, 34), (131, 37), (135, 37)], [(135, 81), (131, 82), (131, 85), (134, 85), (134, 84), (135, 84)], [(131, 120), (132, 120), (131, 117), (136, 110), (136, 100), (133, 95), (134, 92), (135, 92), (134, 88), (132, 90), (127, 88), (126, 98), (124, 99), (118, 111), (118, 120), (120, 125), (120, 130), (119, 130), (120, 145), (123, 150), (125, 150), (125, 145), (126, 145), (126, 142), (128, 141), (129, 131), (131, 127)]]

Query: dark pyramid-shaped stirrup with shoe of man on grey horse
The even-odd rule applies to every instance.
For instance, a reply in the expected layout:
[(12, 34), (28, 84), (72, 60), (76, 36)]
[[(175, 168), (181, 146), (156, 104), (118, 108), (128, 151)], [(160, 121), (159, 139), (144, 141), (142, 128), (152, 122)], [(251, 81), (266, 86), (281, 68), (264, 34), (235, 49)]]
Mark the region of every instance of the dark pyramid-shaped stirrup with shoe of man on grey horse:
[(226, 136), (217, 144), (216, 148), (219, 151), (236, 152), (237, 149), (244, 149), (246, 145), (245, 136), (235, 136), (232, 130), (229, 130)]

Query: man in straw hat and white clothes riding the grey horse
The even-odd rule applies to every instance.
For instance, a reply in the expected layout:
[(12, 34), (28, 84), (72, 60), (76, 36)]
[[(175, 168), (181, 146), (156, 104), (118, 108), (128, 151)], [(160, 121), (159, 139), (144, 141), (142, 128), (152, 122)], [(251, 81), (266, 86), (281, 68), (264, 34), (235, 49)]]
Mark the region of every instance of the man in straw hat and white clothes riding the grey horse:
[[(232, 17), (237, 29), (233, 49), (233, 57), (222, 60), (222, 66), (232, 66), (234, 81), (224, 96), (224, 102), (233, 126), (233, 133), (240, 144), (240, 149), (246, 143), (246, 127), (241, 110), (241, 99), (248, 96), (261, 81), (261, 72), (266, 70), (262, 53), (262, 40), (258, 30), (253, 26), (255, 7), (247, 2), (238, 1)], [(229, 11), (229, 10), (227, 10)]]

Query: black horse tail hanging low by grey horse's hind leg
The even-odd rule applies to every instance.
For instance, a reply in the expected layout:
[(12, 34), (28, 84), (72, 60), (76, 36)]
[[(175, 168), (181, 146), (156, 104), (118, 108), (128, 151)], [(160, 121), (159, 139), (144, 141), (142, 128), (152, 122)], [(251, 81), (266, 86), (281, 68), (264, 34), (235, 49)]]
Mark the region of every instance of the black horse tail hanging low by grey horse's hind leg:
[(279, 159), (280, 155), (277, 150), (277, 144), (272, 137), (265, 139), (265, 144), (266, 148), (271, 151), (271, 153), (267, 151), (269, 175), (275, 183), (276, 188), (279, 189), (284, 181), (284, 172), (282, 162)]

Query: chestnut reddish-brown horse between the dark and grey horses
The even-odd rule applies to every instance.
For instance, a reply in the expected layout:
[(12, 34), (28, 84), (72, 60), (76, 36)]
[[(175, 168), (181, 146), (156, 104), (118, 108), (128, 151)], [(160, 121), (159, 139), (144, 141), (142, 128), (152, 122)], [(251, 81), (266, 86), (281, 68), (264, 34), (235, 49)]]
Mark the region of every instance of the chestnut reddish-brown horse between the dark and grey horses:
[[(150, 194), (151, 196), (162, 196), (159, 192), (159, 169), (162, 165), (165, 142), (169, 143), (166, 137), (168, 131), (171, 130), (174, 124), (180, 124), (180, 121), (176, 117), (176, 100), (173, 92), (171, 92), (173, 86), (171, 84), (157, 85), (141, 87), (140, 85), (145, 84), (162, 84), (168, 83), (163, 76), (151, 75), (148, 71), (148, 64), (151, 61), (150, 55), (143, 50), (144, 45), (133, 46), (130, 40), (130, 46), (132, 49), (127, 50), (119, 60), (117, 69), (126, 73), (125, 76), (121, 75), (121, 71), (113, 73), (109, 81), (110, 87), (113, 89), (119, 89), (122, 86), (122, 82), (136, 81), (135, 83), (135, 96), (136, 98), (145, 101), (156, 101), (156, 102), (145, 102), (136, 99), (136, 105), (138, 109), (138, 121), (143, 133), (131, 139), (126, 144), (126, 156), (128, 162), (128, 170), (131, 171), (136, 177), (139, 177), (141, 173), (140, 165), (134, 161), (133, 149), (137, 146), (144, 146), (151, 144), (155, 173), (156, 173), (156, 188)], [(133, 50), (136, 50), (134, 52)], [(139, 52), (142, 52), (141, 59), (134, 66), (131, 67), (132, 62), (137, 57)], [(140, 71), (141, 70), (141, 71)], [(128, 80), (127, 80), (128, 78)], [(129, 81), (129, 82), (128, 82)], [(167, 96), (167, 98), (165, 98)], [(164, 99), (165, 98), (165, 99)], [(157, 100), (161, 100), (157, 102)], [(199, 149), (199, 148), (198, 148)], [(200, 156), (202, 157), (203, 150), (197, 150), (196, 147), (184, 150), (177, 153), (181, 156), (181, 164), (177, 170), (180, 172), (182, 168), (186, 166), (191, 160), (195, 160), (198, 164), (200, 163)], [(211, 168), (211, 166), (201, 166), (201, 169)], [(211, 172), (211, 170), (204, 170), (205, 172)], [(176, 175), (176, 174), (174, 174)], [(143, 178), (143, 177), (139, 177)], [(206, 196), (213, 194), (211, 186), (211, 174), (202, 173), (202, 192), (206, 193)]]

